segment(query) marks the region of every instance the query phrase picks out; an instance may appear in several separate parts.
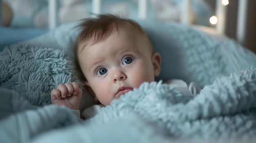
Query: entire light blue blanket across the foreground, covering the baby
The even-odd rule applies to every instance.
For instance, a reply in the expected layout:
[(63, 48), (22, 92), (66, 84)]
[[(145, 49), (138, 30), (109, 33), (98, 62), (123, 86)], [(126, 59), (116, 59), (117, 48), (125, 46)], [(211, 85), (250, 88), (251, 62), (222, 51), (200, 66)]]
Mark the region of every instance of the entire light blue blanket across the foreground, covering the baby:
[[(0, 89), (2, 107), (17, 93)], [(9, 92), (9, 94), (8, 94)], [(11, 98), (11, 100), (9, 100)], [(47, 105), (1, 117), (0, 141), (29, 143), (173, 141), (255, 141), (256, 69), (232, 73), (205, 86), (196, 97), (162, 84), (144, 83), (114, 100), (90, 120), (79, 122), (70, 109)], [(24, 100), (19, 100), (25, 102)], [(14, 110), (16, 106), (11, 104)], [(3, 112), (4, 108), (0, 108)]]

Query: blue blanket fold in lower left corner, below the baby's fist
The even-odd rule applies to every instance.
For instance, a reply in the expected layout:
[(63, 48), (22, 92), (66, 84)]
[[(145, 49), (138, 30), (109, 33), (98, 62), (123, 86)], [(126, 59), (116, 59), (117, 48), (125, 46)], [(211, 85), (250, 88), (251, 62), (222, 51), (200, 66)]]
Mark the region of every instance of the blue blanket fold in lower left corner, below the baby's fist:
[(34, 106), (6, 88), (0, 88), (0, 93), (1, 143), (27, 143), (45, 131), (79, 123), (74, 113), (64, 106)]

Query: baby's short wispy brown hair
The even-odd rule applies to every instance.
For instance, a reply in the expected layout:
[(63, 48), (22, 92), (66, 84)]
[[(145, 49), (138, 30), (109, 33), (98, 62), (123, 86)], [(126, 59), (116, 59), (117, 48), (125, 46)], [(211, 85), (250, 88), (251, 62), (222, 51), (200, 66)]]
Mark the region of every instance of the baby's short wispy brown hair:
[[(113, 31), (130, 34), (130, 31), (135, 30), (147, 37), (141, 26), (134, 20), (120, 18), (111, 14), (98, 15), (97, 18), (85, 19), (79, 26), (82, 28), (82, 31), (76, 40), (74, 55), (76, 75), (80, 81), (86, 81), (86, 78), (83, 75), (79, 64), (78, 53), (83, 51), (85, 47), (92, 46), (106, 40)], [(148, 42), (150, 43), (149, 40)]]

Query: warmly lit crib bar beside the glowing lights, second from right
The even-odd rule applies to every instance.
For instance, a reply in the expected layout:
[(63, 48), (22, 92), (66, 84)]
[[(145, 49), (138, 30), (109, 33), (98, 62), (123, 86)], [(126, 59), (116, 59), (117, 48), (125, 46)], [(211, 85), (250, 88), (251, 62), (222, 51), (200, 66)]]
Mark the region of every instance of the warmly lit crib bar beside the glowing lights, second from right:
[(216, 31), (221, 34), (225, 34), (225, 25), (226, 25), (226, 13), (227, 6), (222, 4), (221, 0), (216, 0), (216, 16), (218, 18), (218, 22), (216, 24)]

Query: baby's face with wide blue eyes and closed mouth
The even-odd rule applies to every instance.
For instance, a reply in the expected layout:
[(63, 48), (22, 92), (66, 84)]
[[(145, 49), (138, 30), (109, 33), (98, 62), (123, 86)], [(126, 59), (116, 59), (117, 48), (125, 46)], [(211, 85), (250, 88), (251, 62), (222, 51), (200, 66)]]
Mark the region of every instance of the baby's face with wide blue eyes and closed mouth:
[(153, 55), (142, 34), (115, 33), (78, 56), (87, 84), (106, 106), (143, 82), (155, 81)]

